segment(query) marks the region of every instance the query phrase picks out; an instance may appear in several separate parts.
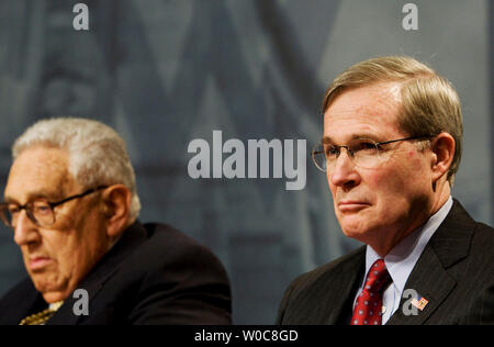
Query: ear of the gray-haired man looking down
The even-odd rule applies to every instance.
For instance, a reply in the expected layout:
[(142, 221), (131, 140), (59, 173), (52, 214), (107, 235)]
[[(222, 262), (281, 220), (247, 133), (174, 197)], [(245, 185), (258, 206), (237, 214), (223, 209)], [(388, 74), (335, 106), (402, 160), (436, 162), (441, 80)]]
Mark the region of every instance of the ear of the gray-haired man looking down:
[(127, 226), (131, 211), (132, 194), (123, 184), (110, 186), (102, 195), (103, 214), (106, 219), (106, 234), (117, 237)]

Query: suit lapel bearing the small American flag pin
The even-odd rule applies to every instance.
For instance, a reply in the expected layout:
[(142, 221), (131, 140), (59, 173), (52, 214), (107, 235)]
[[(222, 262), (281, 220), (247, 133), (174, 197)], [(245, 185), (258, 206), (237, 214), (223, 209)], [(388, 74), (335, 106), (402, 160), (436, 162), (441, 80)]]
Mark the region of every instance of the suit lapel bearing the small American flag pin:
[[(469, 255), (475, 222), (454, 200), (451, 211), (430, 238), (405, 284), (428, 301), (423, 311), (413, 309), (413, 298), (402, 298), (388, 324), (424, 324), (454, 289), (457, 282), (448, 268)], [(409, 311), (408, 311), (409, 312)]]

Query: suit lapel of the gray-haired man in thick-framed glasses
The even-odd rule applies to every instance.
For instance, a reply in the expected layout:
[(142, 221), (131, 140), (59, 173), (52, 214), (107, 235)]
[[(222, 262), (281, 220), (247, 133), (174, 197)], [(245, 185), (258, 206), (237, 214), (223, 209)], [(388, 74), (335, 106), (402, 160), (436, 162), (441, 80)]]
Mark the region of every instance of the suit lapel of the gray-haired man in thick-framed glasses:
[[(122, 261), (134, 251), (147, 237), (147, 231), (138, 222), (128, 227), (115, 246), (98, 262), (97, 267), (78, 286), (88, 293), (89, 307), (96, 300), (104, 283), (119, 270)], [(74, 307), (81, 300), (74, 293), (64, 301), (64, 305), (48, 321), (49, 325), (75, 325), (85, 316), (74, 314)], [(89, 312), (91, 314), (91, 312)]]

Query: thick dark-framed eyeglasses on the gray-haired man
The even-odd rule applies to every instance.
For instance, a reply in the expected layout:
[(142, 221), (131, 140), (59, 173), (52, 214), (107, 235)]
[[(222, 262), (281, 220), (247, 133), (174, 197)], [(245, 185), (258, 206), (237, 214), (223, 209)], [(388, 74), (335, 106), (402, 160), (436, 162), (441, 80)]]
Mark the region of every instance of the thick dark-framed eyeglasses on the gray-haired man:
[(75, 199), (80, 199), (86, 195), (92, 194), (99, 190), (108, 187), (101, 186), (98, 188), (89, 189), (81, 194), (66, 198), (58, 202), (48, 202), (47, 200), (40, 199), (32, 202), (27, 202), (25, 205), (19, 205), (16, 203), (0, 203), (0, 219), (8, 226), (15, 228), (19, 220), (19, 215), (22, 210), (25, 210), (27, 217), (37, 226), (49, 227), (55, 224), (55, 211), (54, 209), (63, 203), (69, 202)]

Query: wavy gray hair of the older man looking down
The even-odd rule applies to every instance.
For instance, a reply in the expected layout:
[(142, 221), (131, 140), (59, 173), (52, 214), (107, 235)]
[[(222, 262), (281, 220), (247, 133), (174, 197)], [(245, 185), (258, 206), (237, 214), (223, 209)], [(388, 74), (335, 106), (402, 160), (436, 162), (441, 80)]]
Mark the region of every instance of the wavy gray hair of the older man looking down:
[(103, 123), (58, 117), (42, 120), (29, 127), (12, 146), (12, 157), (33, 146), (44, 145), (65, 149), (69, 154), (69, 172), (79, 184), (90, 189), (123, 184), (131, 191), (130, 217), (137, 219), (141, 201), (135, 174), (122, 137)]

